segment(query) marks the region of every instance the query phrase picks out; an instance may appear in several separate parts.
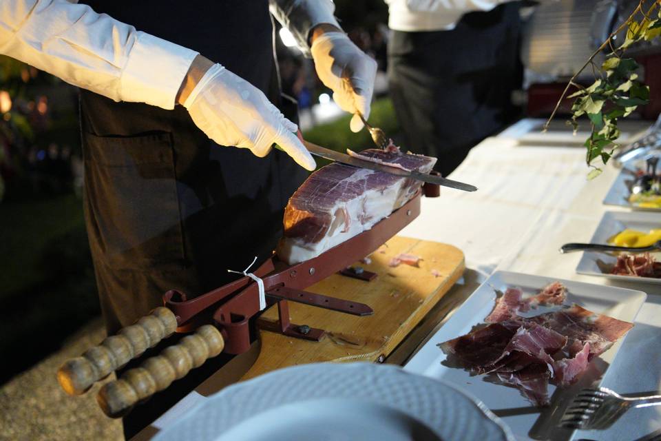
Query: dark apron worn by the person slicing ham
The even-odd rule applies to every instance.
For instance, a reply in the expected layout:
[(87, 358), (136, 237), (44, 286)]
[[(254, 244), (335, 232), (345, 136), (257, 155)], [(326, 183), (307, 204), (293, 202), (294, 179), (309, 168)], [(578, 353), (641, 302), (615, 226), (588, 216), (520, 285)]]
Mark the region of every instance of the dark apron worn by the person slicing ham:
[[(281, 104), (268, 0), (85, 3), (198, 50)], [(115, 103), (81, 90), (81, 130), (87, 233), (109, 333), (161, 305), (169, 289), (198, 296), (235, 279), (227, 269), (268, 258), (284, 206), (306, 176), (282, 152), (257, 158), (216, 145), (181, 106)], [(136, 407), (124, 419), (127, 438), (226, 361), (209, 360)]]

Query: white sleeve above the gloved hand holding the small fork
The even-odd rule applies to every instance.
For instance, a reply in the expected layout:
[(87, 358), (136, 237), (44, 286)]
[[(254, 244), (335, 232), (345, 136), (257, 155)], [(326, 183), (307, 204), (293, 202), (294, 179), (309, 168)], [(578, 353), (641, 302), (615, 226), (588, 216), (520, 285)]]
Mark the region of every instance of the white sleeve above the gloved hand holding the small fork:
[(269, 0), (269, 10), (293, 34), (298, 47), (308, 58), (312, 57), (308, 39), (316, 25), (326, 23), (340, 28), (333, 15), (335, 4), (331, 0)]

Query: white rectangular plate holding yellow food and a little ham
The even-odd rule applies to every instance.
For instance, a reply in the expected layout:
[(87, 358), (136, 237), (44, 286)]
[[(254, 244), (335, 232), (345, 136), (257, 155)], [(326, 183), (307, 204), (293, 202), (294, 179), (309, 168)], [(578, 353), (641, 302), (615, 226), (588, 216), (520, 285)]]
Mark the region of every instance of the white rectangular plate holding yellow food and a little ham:
[[(609, 238), (615, 236), (624, 229), (638, 229), (649, 232), (651, 229), (661, 228), (661, 214), (645, 212), (605, 212), (604, 216), (595, 230), (590, 243), (608, 243)], [(652, 253), (657, 261), (661, 260), (661, 252)], [(589, 276), (602, 276), (615, 280), (626, 280), (627, 282), (644, 282), (661, 285), (661, 278), (616, 276), (608, 274), (607, 267), (616, 263), (618, 258), (613, 254), (584, 252), (578, 262), (576, 272), (588, 274)], [(604, 269), (602, 269), (604, 268)]]

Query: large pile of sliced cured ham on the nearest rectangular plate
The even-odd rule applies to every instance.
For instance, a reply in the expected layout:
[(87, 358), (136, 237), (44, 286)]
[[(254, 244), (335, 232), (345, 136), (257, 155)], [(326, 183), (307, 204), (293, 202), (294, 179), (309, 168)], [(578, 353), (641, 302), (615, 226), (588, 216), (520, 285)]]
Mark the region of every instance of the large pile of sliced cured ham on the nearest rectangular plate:
[(495, 374), (536, 406), (544, 406), (549, 381), (571, 384), (591, 358), (633, 327), (578, 305), (529, 318), (518, 315), (539, 305), (563, 305), (566, 294), (558, 282), (529, 298), (523, 298), (521, 289), (508, 288), (485, 318), (487, 325), (439, 347), (475, 373)]

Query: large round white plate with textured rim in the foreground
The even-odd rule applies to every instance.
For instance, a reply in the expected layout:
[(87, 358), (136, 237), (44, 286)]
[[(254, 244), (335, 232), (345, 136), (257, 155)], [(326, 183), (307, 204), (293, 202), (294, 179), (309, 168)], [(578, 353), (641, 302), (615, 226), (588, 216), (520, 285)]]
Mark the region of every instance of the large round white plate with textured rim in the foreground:
[(514, 440), (454, 385), (372, 363), (289, 367), (204, 400), (154, 440)]

